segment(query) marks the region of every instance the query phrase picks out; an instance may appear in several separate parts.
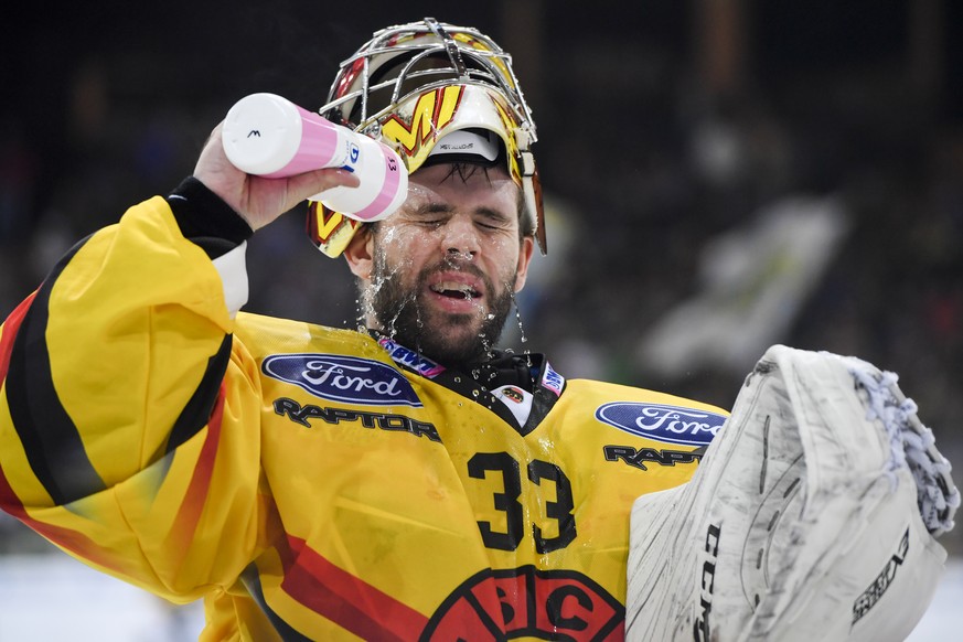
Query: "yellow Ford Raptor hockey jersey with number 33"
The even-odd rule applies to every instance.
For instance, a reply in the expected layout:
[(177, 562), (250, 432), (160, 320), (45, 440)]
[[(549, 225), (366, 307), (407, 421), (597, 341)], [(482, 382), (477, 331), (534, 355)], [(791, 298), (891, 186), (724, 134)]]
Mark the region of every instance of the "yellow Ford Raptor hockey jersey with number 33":
[[(616, 640), (629, 514), (725, 420), (240, 312), (156, 197), (0, 330), (0, 507), (206, 640)], [(517, 360), (516, 360), (517, 361)]]

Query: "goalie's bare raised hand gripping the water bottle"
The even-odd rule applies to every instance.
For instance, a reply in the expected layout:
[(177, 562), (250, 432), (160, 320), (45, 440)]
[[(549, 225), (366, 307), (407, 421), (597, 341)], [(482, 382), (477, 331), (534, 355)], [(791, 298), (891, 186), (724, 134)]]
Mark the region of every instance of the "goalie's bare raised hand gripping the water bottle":
[(339, 185), (356, 188), (359, 184), (354, 174), (342, 169), (314, 170), (286, 179), (246, 174), (231, 164), (224, 154), (222, 125), (214, 128), (201, 151), (194, 178), (234, 208), (254, 231), (271, 223), (308, 196)]

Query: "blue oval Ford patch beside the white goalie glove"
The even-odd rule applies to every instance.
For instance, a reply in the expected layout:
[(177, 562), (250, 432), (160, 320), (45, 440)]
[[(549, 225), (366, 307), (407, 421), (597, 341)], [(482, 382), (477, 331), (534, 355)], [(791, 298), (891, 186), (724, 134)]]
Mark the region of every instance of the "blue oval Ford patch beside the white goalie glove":
[(716, 413), (664, 404), (613, 402), (600, 406), (596, 418), (625, 432), (686, 446), (705, 446), (726, 422)]

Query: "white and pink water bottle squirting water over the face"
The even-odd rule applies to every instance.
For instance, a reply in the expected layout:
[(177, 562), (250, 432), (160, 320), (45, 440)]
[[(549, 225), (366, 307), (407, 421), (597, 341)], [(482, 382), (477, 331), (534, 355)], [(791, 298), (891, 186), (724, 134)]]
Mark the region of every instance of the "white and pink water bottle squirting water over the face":
[(393, 149), (276, 94), (238, 100), (227, 111), (222, 139), (227, 160), (249, 174), (282, 178), (321, 168), (354, 172), (357, 188), (332, 188), (311, 200), (359, 221), (388, 216), (408, 193), (408, 173)]

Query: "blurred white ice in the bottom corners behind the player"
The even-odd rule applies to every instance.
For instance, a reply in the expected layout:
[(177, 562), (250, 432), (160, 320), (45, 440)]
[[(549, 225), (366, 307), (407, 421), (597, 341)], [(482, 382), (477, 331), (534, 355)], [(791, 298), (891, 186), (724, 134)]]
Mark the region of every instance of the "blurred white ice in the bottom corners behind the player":
[[(959, 640), (963, 558), (952, 558), (911, 642)], [(203, 628), (200, 603), (172, 607), (65, 555), (0, 556), (0, 641), (181, 642)]]

